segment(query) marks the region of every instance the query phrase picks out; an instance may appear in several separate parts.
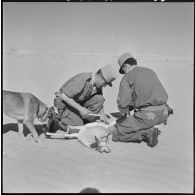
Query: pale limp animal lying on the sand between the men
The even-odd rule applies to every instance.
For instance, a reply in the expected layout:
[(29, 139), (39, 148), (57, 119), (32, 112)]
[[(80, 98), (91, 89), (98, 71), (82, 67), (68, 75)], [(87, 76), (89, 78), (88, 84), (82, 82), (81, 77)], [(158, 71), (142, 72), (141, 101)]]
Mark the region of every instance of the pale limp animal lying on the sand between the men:
[[(101, 121), (87, 123), (82, 126), (67, 126), (66, 133), (50, 133), (46, 132), (46, 136), (61, 138), (77, 138), (80, 143), (88, 148), (95, 148), (98, 152), (111, 152), (109, 148), (108, 138), (113, 133), (119, 120), (125, 119), (122, 116), (117, 120), (106, 124)], [(77, 129), (78, 133), (70, 133), (71, 130)]]

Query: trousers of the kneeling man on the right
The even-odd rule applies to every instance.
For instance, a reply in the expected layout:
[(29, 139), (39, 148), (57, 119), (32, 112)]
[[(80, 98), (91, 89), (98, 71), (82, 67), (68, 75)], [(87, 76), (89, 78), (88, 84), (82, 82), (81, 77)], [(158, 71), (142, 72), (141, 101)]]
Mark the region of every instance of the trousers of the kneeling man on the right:
[(135, 110), (134, 114), (125, 117), (117, 125), (113, 132), (112, 140), (120, 142), (141, 142), (143, 140), (142, 130), (150, 129), (161, 123), (166, 124), (168, 113), (168, 105), (161, 105), (150, 109)]

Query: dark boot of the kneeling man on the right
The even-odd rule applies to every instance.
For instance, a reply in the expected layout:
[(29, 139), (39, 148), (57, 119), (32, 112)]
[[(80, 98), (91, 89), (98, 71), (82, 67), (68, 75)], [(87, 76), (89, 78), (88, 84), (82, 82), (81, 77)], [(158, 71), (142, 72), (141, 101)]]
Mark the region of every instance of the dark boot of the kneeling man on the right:
[(143, 137), (144, 142), (147, 143), (147, 145), (151, 148), (156, 146), (158, 144), (158, 135), (160, 134), (160, 131), (158, 128), (150, 128), (146, 130), (142, 130), (141, 136)]

